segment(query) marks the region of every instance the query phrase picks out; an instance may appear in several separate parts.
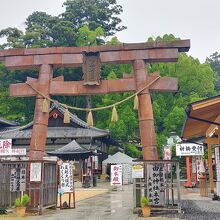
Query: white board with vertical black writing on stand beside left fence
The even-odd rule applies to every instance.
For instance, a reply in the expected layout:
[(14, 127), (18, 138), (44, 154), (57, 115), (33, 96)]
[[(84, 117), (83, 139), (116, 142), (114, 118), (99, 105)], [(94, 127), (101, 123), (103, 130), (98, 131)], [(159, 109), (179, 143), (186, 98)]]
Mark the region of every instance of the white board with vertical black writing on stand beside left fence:
[(73, 192), (73, 165), (70, 163), (60, 166), (60, 191)]

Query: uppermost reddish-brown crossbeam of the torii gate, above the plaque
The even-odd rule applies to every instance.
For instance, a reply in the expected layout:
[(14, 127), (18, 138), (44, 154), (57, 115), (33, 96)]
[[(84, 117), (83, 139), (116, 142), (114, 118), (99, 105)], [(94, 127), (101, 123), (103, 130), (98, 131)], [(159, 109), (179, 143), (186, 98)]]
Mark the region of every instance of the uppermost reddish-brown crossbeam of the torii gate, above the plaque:
[[(122, 43), (82, 47), (51, 47), (0, 50), (0, 60), (10, 69), (31, 68), (42, 64), (81, 66), (84, 52), (99, 52), (101, 63), (168, 62), (178, 59), (178, 52), (187, 52), (190, 40)], [(74, 56), (74, 60), (73, 60)]]

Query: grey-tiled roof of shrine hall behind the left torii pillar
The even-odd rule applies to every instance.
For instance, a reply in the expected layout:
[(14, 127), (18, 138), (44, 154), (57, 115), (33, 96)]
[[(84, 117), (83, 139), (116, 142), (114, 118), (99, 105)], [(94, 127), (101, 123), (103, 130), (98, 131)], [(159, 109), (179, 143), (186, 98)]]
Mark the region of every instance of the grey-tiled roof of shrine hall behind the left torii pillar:
[[(75, 140), (85, 149), (102, 152), (102, 159), (104, 159), (107, 158), (109, 145), (118, 146), (118, 143), (110, 138), (108, 130), (89, 127), (86, 122), (72, 113), (70, 113), (70, 123), (63, 123), (64, 111), (64, 108), (58, 106), (52, 106), (50, 109), (47, 152), (57, 150)], [(0, 139), (10, 138), (13, 140), (13, 147), (26, 147), (27, 151), (29, 150), (33, 122), (18, 126), (17, 123), (0, 119), (0, 126)], [(38, 140), (36, 140), (37, 144)]]

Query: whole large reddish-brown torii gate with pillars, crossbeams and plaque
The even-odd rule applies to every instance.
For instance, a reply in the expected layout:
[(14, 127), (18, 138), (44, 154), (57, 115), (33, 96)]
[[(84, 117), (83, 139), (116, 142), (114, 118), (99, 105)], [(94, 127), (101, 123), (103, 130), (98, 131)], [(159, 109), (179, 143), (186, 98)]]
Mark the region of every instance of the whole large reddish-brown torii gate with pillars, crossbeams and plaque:
[[(159, 73), (148, 74), (146, 62), (175, 62), (178, 52), (187, 52), (189, 40), (152, 42), (137, 44), (57, 47), (0, 50), (0, 60), (8, 69), (39, 68), (38, 79), (28, 78), (28, 84), (45, 96), (51, 95), (95, 95), (111, 92), (139, 91), (139, 128), (144, 160), (156, 160), (157, 147), (151, 91), (176, 92), (177, 79), (160, 77)], [(118, 80), (101, 80), (101, 64), (132, 63), (133, 75)], [(54, 67), (80, 67), (85, 71), (84, 80), (65, 82), (62, 77), (53, 78)], [(36, 96), (34, 124), (30, 143), (30, 160), (43, 160), (47, 137), (49, 113), (42, 112), (43, 97), (26, 83), (10, 85), (10, 95), (14, 97)]]

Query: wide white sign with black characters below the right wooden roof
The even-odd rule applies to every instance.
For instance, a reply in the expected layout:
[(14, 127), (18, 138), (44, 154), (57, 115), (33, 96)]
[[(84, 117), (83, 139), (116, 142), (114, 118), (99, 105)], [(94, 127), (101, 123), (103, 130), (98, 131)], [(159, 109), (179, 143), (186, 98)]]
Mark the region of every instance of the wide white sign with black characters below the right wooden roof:
[(193, 143), (176, 144), (176, 156), (204, 155), (204, 146)]

